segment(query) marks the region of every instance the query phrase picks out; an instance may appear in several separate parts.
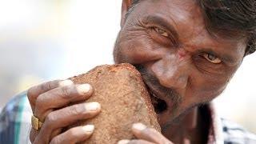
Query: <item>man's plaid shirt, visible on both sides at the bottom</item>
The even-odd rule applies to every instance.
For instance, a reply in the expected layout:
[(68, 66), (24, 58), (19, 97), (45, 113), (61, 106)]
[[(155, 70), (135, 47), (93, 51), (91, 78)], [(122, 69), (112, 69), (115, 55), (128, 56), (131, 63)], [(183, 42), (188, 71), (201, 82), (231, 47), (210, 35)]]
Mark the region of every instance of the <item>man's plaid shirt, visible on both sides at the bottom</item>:
[[(244, 130), (234, 122), (218, 118), (211, 104), (206, 106), (212, 119), (212, 130), (208, 136), (208, 144), (256, 144), (256, 136)], [(30, 103), (26, 92), (13, 98), (2, 109), (0, 114), (0, 144), (30, 143)]]

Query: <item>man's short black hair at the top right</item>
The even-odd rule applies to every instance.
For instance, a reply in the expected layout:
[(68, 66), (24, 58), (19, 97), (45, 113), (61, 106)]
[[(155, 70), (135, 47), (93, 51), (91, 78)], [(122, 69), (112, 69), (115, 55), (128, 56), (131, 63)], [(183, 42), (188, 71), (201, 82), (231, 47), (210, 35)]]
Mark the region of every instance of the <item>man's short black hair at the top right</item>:
[[(134, 7), (142, 0), (132, 0)], [(256, 0), (197, 0), (210, 34), (247, 38), (246, 53), (256, 50)]]

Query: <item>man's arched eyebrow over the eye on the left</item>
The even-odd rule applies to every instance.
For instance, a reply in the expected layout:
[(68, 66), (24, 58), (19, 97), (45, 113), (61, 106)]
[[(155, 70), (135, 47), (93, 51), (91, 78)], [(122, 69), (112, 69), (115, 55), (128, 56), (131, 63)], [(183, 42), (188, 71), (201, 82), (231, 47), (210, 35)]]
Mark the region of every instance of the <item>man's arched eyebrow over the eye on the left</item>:
[(163, 26), (165, 29), (170, 30), (170, 33), (174, 36), (174, 38), (179, 38), (177, 30), (174, 28), (173, 25), (170, 24), (170, 22), (166, 20), (166, 18), (162, 18), (158, 15), (148, 15), (145, 20), (146, 22)]

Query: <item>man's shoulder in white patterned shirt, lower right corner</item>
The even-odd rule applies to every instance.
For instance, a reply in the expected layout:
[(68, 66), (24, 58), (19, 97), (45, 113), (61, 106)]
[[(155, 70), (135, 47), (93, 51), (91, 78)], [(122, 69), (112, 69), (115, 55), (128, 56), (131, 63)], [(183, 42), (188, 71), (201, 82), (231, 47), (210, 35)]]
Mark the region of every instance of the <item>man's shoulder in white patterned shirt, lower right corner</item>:
[(242, 126), (239, 126), (235, 122), (230, 122), (224, 118), (221, 118), (222, 121), (222, 131), (224, 136), (224, 143), (246, 143), (246, 144), (255, 144), (256, 135), (245, 130)]

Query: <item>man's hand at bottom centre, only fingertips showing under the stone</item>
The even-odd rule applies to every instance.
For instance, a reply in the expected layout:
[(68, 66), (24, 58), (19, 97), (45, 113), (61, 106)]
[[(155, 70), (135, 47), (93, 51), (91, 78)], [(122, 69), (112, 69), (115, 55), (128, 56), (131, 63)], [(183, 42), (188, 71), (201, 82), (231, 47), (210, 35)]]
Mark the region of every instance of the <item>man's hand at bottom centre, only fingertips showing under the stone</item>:
[(157, 130), (147, 128), (142, 123), (134, 123), (132, 132), (138, 139), (121, 140), (118, 144), (173, 144)]

